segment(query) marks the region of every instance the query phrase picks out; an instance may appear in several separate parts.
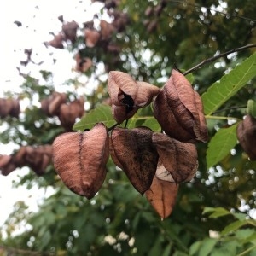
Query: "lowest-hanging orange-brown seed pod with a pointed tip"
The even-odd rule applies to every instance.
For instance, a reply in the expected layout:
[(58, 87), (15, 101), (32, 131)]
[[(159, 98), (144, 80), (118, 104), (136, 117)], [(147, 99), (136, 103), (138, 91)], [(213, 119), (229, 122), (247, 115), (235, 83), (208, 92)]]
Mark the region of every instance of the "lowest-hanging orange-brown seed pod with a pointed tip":
[(178, 184), (169, 183), (154, 176), (150, 189), (145, 192), (145, 195), (160, 218), (164, 219), (172, 213), (177, 192)]

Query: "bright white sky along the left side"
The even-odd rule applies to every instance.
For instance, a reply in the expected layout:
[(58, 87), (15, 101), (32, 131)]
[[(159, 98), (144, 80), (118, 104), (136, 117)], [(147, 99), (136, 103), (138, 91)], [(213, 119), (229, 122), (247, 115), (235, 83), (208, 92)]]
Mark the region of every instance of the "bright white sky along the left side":
[[(93, 9), (98, 9), (102, 3), (93, 3)], [(49, 32), (61, 31), (61, 21), (57, 18), (64, 16), (64, 20), (76, 20), (82, 24), (92, 20), (94, 12), (91, 11), (90, 0), (3, 0), (0, 8), (0, 56), (2, 68), (0, 71), (0, 97), (6, 90), (19, 92), (19, 85), (23, 79), (18, 75), (16, 67), (20, 61), (26, 60), (24, 49), (33, 49), (38, 53), (38, 61), (44, 59), (45, 63), (40, 69), (51, 70), (56, 85), (62, 84), (72, 75), (73, 55), (67, 50), (46, 49), (44, 42), (52, 39)], [(22, 26), (18, 27), (14, 21), (18, 20)], [(52, 58), (45, 56), (52, 51), (57, 62), (52, 63)], [(44, 56), (44, 57), (42, 57)], [(37, 61), (34, 56), (34, 61)], [(29, 66), (27, 68), (30, 68)], [(36, 73), (36, 71), (34, 71)], [(0, 127), (1, 131), (1, 127)], [(1, 134), (0, 134), (1, 136)], [(0, 143), (0, 154), (12, 154), (15, 145), (3, 145)], [(27, 190), (20, 187), (12, 188), (13, 181), (28, 172), (27, 168), (18, 169), (7, 177), (0, 175), (0, 226), (8, 218), (15, 201), (26, 201), (31, 209), (37, 209), (38, 201), (44, 196), (43, 189), (32, 188)], [(0, 230), (1, 231), (1, 230)]]

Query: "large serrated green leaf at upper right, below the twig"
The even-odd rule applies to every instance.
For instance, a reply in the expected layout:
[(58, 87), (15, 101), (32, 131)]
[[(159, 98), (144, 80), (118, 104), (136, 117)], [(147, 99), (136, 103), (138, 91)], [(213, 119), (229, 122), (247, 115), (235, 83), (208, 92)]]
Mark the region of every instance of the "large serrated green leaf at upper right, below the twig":
[(242, 61), (230, 73), (212, 84), (201, 96), (205, 114), (210, 115), (224, 102), (234, 96), (250, 79), (256, 75), (256, 53)]

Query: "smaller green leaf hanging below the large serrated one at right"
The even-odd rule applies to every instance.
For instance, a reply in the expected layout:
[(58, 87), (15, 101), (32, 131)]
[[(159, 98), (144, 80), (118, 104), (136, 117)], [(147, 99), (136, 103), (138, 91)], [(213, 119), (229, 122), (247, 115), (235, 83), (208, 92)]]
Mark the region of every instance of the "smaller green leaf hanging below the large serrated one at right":
[(236, 146), (236, 126), (237, 124), (229, 128), (220, 128), (212, 137), (207, 148), (207, 168), (218, 164)]

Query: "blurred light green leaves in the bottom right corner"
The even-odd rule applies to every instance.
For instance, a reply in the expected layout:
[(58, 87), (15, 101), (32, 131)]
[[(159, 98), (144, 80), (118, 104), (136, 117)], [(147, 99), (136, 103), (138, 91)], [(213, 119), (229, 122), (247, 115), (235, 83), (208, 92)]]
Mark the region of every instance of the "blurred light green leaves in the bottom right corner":
[(189, 250), (189, 255), (254, 255), (256, 253), (256, 221), (247, 218), (246, 214), (232, 213), (222, 207), (206, 207), (203, 214), (209, 218), (233, 217), (230, 224), (214, 237), (196, 241)]

